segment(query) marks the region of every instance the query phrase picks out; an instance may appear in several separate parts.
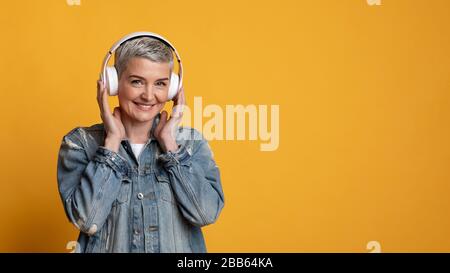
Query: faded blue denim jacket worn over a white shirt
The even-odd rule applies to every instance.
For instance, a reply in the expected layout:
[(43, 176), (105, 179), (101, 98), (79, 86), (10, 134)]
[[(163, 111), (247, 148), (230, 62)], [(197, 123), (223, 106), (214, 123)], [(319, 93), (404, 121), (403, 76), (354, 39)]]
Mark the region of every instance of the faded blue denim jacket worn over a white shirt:
[(128, 139), (117, 153), (104, 139), (103, 124), (77, 127), (59, 150), (59, 193), (80, 230), (76, 251), (206, 252), (201, 227), (217, 220), (224, 194), (203, 136), (179, 127), (176, 152), (163, 153), (152, 137), (139, 158)]

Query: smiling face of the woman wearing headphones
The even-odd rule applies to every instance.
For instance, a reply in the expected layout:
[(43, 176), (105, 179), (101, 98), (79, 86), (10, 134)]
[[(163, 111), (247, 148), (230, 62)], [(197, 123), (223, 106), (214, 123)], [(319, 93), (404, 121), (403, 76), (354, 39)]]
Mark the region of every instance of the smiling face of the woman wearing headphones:
[(170, 72), (169, 63), (131, 58), (119, 79), (122, 113), (137, 122), (153, 120), (167, 102)]

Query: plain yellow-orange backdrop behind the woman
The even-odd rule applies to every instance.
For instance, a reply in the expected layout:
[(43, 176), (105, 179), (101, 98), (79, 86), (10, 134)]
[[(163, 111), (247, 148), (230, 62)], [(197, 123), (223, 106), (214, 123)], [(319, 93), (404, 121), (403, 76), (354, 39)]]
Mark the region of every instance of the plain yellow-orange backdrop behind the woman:
[[(450, 251), (450, 1), (1, 1), (0, 251), (68, 252), (62, 136), (129, 32), (168, 38), (188, 105), (280, 105), (280, 146), (212, 141), (210, 252)], [(117, 98), (111, 98), (111, 107)]]

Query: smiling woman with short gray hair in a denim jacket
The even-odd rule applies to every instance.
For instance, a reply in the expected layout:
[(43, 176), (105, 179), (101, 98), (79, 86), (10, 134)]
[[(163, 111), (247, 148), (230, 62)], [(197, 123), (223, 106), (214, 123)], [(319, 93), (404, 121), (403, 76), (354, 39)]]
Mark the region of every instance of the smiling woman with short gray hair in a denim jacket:
[(59, 192), (80, 230), (77, 252), (206, 252), (201, 227), (217, 220), (224, 195), (207, 141), (178, 127), (183, 89), (172, 116), (160, 113), (171, 49), (131, 39), (116, 50), (115, 67), (119, 107), (111, 113), (99, 81), (103, 123), (73, 129), (59, 151)]

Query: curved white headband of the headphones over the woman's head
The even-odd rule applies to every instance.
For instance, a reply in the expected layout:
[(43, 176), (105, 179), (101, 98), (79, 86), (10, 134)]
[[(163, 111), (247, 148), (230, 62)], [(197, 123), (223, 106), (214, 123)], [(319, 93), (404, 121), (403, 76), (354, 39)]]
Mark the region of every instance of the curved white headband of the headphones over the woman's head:
[(167, 39), (165, 39), (161, 35), (153, 33), (153, 32), (145, 32), (145, 31), (133, 32), (128, 35), (125, 35), (119, 41), (114, 43), (113, 46), (109, 49), (108, 53), (106, 54), (105, 58), (103, 59), (102, 70), (100, 73), (100, 79), (103, 81), (103, 84), (105, 84), (106, 67), (108, 66), (108, 62), (111, 59), (113, 52), (115, 52), (117, 50), (117, 48), (119, 48), (119, 46), (121, 46), (123, 43), (125, 43), (131, 39), (138, 38), (138, 37), (156, 38), (156, 39), (160, 40), (161, 42), (163, 42), (164, 44), (168, 45), (173, 50), (173, 52), (175, 52), (175, 56), (178, 61), (179, 82), (178, 82), (177, 91), (179, 91), (181, 89), (181, 87), (183, 86), (183, 65), (181, 63), (181, 58), (180, 58), (180, 55), (178, 54), (178, 51)]

